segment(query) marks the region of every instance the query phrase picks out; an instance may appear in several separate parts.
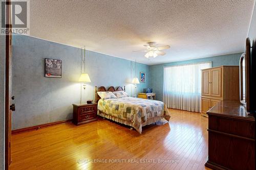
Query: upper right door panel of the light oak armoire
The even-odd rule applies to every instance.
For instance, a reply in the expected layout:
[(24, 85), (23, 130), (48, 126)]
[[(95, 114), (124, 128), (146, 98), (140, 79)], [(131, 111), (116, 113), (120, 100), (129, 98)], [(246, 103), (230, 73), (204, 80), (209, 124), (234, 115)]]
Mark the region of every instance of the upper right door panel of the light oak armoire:
[(210, 95), (222, 97), (222, 67), (210, 69)]

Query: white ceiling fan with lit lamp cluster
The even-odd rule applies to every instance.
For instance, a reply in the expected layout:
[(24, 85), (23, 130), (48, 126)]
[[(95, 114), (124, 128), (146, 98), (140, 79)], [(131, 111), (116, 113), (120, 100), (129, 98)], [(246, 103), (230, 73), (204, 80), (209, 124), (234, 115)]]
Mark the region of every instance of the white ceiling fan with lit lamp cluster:
[(155, 58), (158, 55), (163, 56), (163, 55), (166, 54), (164, 52), (161, 52), (161, 50), (170, 48), (169, 45), (164, 45), (164, 46), (157, 47), (155, 44), (156, 44), (156, 42), (148, 42), (147, 45), (144, 45), (147, 48), (146, 50), (135, 51), (135, 52), (147, 52), (145, 54), (146, 58), (150, 58), (150, 57), (154, 57)]

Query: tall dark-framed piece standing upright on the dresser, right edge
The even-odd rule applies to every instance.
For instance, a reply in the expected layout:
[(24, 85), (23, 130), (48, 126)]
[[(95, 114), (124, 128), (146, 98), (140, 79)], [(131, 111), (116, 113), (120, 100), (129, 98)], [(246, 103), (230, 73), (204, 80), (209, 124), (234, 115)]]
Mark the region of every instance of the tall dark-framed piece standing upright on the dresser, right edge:
[(249, 38), (246, 38), (245, 53), (240, 58), (240, 102), (249, 114), (256, 113), (256, 58), (255, 42), (251, 47)]

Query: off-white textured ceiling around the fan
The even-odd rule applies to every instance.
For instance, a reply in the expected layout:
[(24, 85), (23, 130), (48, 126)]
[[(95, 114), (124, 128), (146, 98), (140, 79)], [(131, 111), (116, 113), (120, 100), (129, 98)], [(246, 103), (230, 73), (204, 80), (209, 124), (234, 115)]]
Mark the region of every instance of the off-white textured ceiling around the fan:
[[(145, 64), (242, 52), (254, 1), (30, 1), (30, 35)], [(147, 59), (143, 44), (170, 45)]]

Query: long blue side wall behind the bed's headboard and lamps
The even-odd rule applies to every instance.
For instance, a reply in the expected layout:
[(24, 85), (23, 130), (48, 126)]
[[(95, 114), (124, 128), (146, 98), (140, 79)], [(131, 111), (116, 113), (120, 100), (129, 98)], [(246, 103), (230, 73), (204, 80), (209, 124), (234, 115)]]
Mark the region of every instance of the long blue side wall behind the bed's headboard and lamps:
[[(45, 58), (62, 60), (62, 78), (45, 78)], [(24, 35), (13, 36), (12, 92), (16, 111), (13, 130), (73, 117), (72, 103), (80, 101), (81, 49)], [(96, 52), (86, 52), (86, 72), (92, 83), (82, 91), (82, 103), (95, 98), (95, 86), (126, 86), (130, 95), (135, 92), (132, 68), (135, 63)], [(148, 65), (137, 64), (146, 73)], [(135, 70), (134, 70), (135, 71)], [(149, 82), (138, 84), (137, 92)]]

